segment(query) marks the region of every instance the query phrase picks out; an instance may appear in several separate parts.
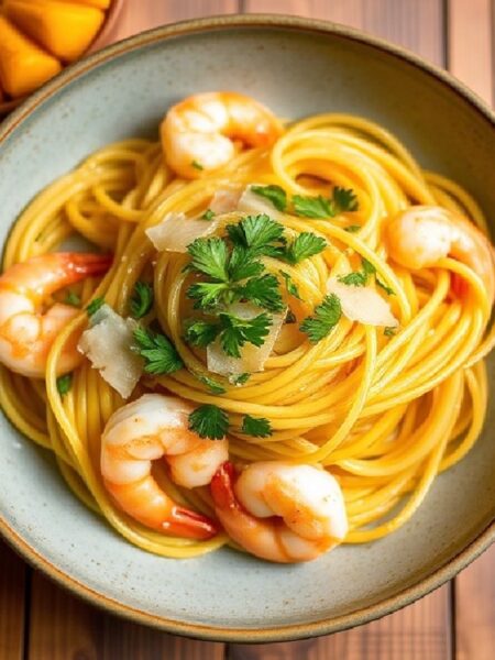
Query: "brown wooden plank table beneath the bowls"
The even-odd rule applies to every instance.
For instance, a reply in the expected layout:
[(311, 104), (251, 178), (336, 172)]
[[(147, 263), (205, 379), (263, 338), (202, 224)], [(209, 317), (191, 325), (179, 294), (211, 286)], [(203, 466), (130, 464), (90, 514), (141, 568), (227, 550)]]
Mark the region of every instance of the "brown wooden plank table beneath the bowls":
[[(178, 20), (278, 12), (361, 28), (448, 67), (493, 101), (490, 0), (127, 0), (116, 40)], [(124, 623), (30, 569), (0, 542), (0, 660), (493, 660), (495, 548), (433, 594), (367, 626), (248, 647)]]

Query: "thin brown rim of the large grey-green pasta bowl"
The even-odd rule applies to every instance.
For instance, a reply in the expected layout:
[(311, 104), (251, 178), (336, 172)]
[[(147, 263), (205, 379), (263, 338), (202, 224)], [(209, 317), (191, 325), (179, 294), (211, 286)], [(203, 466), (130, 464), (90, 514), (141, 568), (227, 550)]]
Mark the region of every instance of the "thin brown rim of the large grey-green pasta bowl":
[[(400, 58), (408, 64), (416, 66), (424, 73), (435, 78), (441, 85), (455, 91), (464, 101), (468, 101), (486, 121), (495, 129), (495, 113), (468, 87), (452, 77), (444, 70), (426, 63), (420, 57), (402, 47), (392, 45), (381, 38), (370, 36), (358, 30), (319, 21), (314, 19), (302, 19), (299, 16), (284, 16), (273, 14), (230, 14), (227, 16), (210, 16), (193, 21), (183, 21), (173, 25), (157, 28), (132, 36), (125, 41), (108, 46), (103, 51), (79, 61), (42, 87), (32, 95), (29, 100), (18, 108), (0, 127), (0, 148), (6, 139), (16, 129), (22, 128), (23, 122), (35, 113), (36, 109), (46, 100), (57, 94), (57, 91), (80, 75), (94, 69), (98, 65), (116, 61), (123, 53), (157, 43), (169, 37), (208, 32), (210, 30), (230, 30), (232, 28), (273, 28), (282, 30), (294, 30), (302, 33), (314, 33), (318, 35), (337, 35), (340, 38), (349, 40), (372, 46), (377, 51), (394, 57)], [(210, 641), (232, 641), (232, 642), (272, 642), (289, 641), (328, 635), (366, 624), (373, 619), (380, 618), (400, 607), (409, 605), (414, 601), (425, 596), (429, 592), (441, 586), (448, 580), (451, 580), (459, 571), (475, 560), (484, 550), (495, 541), (495, 519), (483, 529), (474, 540), (472, 540), (463, 550), (455, 554), (451, 560), (437, 569), (433, 573), (427, 575), (413, 586), (404, 588), (400, 593), (384, 598), (383, 601), (362, 607), (349, 614), (324, 618), (310, 624), (276, 626), (263, 630), (250, 628), (219, 628), (204, 626), (198, 624), (188, 624), (148, 614), (119, 603), (113, 598), (90, 588), (86, 584), (75, 580), (72, 575), (61, 571), (48, 559), (41, 556), (25, 539), (23, 539), (13, 529), (0, 514), (0, 534), (6, 540), (22, 554), (34, 568), (40, 569), (50, 578), (55, 580), (62, 586), (88, 601), (92, 605), (102, 607), (111, 614), (123, 616), (140, 624), (145, 624), (160, 628), (167, 632), (195, 637)]]

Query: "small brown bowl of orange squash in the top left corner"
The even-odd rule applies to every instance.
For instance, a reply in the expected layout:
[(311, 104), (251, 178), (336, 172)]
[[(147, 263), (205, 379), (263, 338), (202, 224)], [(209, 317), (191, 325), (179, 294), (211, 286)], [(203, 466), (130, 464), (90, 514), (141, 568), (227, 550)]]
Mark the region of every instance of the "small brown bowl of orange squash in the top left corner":
[(109, 43), (123, 0), (0, 0), (0, 118)]

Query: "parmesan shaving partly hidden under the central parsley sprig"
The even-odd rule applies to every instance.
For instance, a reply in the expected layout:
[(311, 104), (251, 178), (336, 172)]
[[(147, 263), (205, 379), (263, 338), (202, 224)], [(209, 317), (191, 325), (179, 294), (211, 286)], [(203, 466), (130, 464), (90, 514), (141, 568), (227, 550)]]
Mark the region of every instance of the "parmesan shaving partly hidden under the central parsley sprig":
[[(263, 314), (264, 309), (255, 305), (242, 304), (231, 305), (228, 309), (241, 319), (253, 319)], [(217, 339), (207, 348), (208, 371), (222, 376), (239, 376), (244, 373), (254, 373), (264, 371), (265, 362), (268, 360), (273, 346), (280, 332), (285, 320), (286, 311), (274, 314), (270, 332), (265, 338), (265, 343), (261, 346), (246, 343), (241, 349), (241, 358), (230, 358), (223, 352), (220, 341)]]

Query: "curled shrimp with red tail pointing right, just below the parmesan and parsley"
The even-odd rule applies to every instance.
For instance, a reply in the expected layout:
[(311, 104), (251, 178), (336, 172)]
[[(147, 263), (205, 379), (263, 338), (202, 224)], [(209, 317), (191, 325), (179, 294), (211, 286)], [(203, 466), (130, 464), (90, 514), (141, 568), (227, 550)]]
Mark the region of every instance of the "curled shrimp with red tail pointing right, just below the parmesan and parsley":
[(186, 402), (144, 394), (119, 408), (101, 438), (101, 474), (107, 491), (131, 518), (176, 536), (207, 539), (217, 534), (207, 517), (177, 505), (151, 473), (165, 458), (175, 483), (194, 488), (209, 484), (228, 458), (228, 442), (207, 440), (188, 429), (194, 410)]

